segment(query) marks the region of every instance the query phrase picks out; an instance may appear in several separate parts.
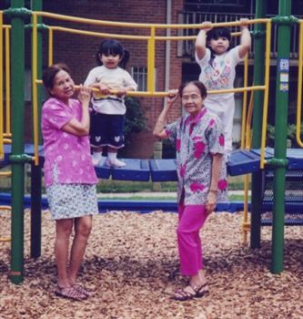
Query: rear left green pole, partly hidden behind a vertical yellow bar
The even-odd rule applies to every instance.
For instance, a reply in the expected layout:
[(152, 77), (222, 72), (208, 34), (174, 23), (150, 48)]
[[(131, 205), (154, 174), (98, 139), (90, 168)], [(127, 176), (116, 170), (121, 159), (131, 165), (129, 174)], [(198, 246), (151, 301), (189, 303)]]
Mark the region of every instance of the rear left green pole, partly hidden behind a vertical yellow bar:
[[(32, 0), (32, 10), (42, 11), (42, 0)], [(38, 24), (42, 25), (41, 16), (38, 17)], [(32, 50), (37, 50), (37, 77), (42, 78), (42, 28), (38, 28), (37, 47), (32, 46)], [(33, 61), (34, 62), (34, 61)], [(42, 87), (37, 87), (37, 101), (39, 105), (39, 114), (41, 114)], [(39, 144), (41, 144), (41, 131), (39, 130)], [(41, 255), (41, 206), (42, 206), (42, 171), (41, 165), (31, 165), (31, 257), (37, 258)]]

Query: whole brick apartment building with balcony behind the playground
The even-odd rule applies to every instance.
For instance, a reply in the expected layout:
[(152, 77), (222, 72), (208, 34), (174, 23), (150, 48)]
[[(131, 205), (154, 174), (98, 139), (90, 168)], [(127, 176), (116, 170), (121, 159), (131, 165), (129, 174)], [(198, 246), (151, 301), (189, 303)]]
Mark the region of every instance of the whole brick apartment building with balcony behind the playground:
[[(43, 10), (61, 15), (79, 16), (90, 19), (145, 23), (145, 24), (198, 24), (203, 21), (225, 22), (236, 21), (240, 17), (254, 18), (255, 1), (252, 0), (66, 0), (66, 1), (43, 1)], [(303, 0), (292, 2), (292, 14), (302, 17)], [(25, 0), (25, 6), (30, 8), (31, 1)], [(0, 9), (10, 6), (9, 0), (0, 2)], [(268, 15), (278, 14), (278, 0), (273, 0), (269, 7)], [(300, 16), (301, 15), (301, 16)], [(96, 31), (108, 34), (140, 35), (149, 36), (148, 29), (128, 27), (92, 26), (45, 18), (43, 21), (51, 26), (69, 26), (77, 29)], [(273, 26), (275, 28), (276, 26)], [(44, 66), (47, 65), (47, 34), (44, 42)], [(166, 35), (167, 30), (157, 32), (157, 36)], [(197, 30), (185, 30), (185, 35), (196, 35)], [(177, 35), (177, 30), (172, 30), (171, 35)], [(294, 27), (294, 35), (291, 43), (290, 67), (291, 71), (298, 66), (298, 28)], [(96, 66), (95, 53), (101, 37), (81, 36), (54, 32), (54, 62), (64, 61), (73, 70), (73, 77), (77, 83), (86, 78), (87, 72)], [(147, 44), (146, 40), (120, 40), (130, 52), (130, 60), (126, 69), (136, 78), (140, 90), (146, 89), (146, 66), (147, 66)], [(269, 108), (275, 108), (275, 83), (276, 83), (276, 49), (277, 33), (272, 32), (272, 60), (270, 71), (270, 97)], [(235, 44), (235, 43), (234, 43)], [(27, 72), (25, 86), (25, 97), (30, 104), (30, 37), (26, 37), (26, 67)], [(253, 51), (249, 57), (248, 82), (251, 83), (254, 65)], [(243, 66), (237, 67), (236, 87), (243, 82)], [(294, 71), (294, 74), (296, 71)], [(194, 59), (193, 41), (170, 41), (168, 47), (166, 41), (157, 41), (156, 49), (156, 90), (164, 91), (168, 87), (178, 87), (181, 82), (198, 78), (199, 67)], [(290, 72), (290, 101), (289, 122), (293, 122), (296, 112), (296, 74)], [(27, 92), (27, 93), (26, 93)], [(236, 97), (236, 114), (234, 119), (234, 141), (239, 140), (241, 100), (239, 94)], [(139, 133), (131, 140), (131, 148), (127, 156), (133, 158), (151, 158), (153, 156), (153, 145), (157, 140), (152, 135), (157, 116), (163, 107), (163, 98), (140, 98), (141, 106), (144, 108), (147, 118), (145, 132)], [(26, 113), (28, 115), (28, 112)], [(181, 114), (181, 108), (175, 108), (175, 113), (169, 120), (177, 118)], [(269, 111), (269, 122), (273, 122), (274, 111)], [(30, 118), (28, 116), (28, 118)], [(29, 119), (30, 120), (30, 119)]]

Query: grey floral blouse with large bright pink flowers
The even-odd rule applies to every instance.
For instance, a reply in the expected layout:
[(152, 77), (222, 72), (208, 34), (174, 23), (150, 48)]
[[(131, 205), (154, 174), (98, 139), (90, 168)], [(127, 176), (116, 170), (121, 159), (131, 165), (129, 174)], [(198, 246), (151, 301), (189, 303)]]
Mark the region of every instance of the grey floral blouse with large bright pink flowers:
[[(214, 154), (224, 154), (224, 129), (217, 116), (207, 108), (197, 114), (178, 118), (165, 128), (177, 150), (177, 201), (184, 195), (185, 205), (205, 205), (211, 182)], [(227, 166), (217, 184), (217, 202), (227, 201)], [(183, 193), (184, 192), (184, 193)]]

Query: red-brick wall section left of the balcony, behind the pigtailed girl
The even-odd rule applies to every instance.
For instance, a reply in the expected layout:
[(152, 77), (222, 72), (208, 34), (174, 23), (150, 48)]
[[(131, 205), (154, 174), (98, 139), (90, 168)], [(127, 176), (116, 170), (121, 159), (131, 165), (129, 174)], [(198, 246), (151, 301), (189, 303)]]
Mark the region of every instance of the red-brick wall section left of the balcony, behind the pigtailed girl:
[[(167, 3), (171, 3), (168, 8), (171, 15), (167, 16)], [(183, 9), (183, 0), (118, 0), (118, 1), (84, 1), (84, 0), (67, 0), (67, 1), (45, 1), (44, 11), (59, 13), (61, 15), (74, 15), (90, 19), (145, 23), (145, 24), (177, 24), (177, 14)], [(146, 14), (148, 13), (148, 14)], [(47, 25), (65, 25), (69, 27), (82, 28), (102, 33), (123, 34), (123, 35), (141, 35), (148, 36), (149, 29), (134, 29), (126, 27), (106, 27), (106, 26), (89, 26), (76, 23), (66, 23), (54, 19), (45, 19)], [(159, 30), (157, 36), (164, 36), (166, 30)], [(172, 31), (174, 34), (174, 31)], [(176, 31), (175, 31), (176, 34)], [(65, 61), (73, 70), (77, 83), (83, 82), (88, 71), (96, 66), (95, 53), (102, 38), (95, 36), (78, 36), (69, 35), (61, 32), (54, 32), (54, 61)], [(133, 74), (136, 80), (141, 73), (141, 89), (146, 81), (146, 57), (147, 41), (146, 40), (119, 40), (129, 51), (130, 59), (126, 69)], [(159, 41), (156, 47), (156, 90), (164, 91), (165, 87), (178, 87), (182, 80), (182, 59), (177, 57), (177, 42), (172, 42), (170, 54), (167, 57), (166, 41)], [(45, 52), (46, 53), (46, 52)], [(45, 62), (46, 63), (46, 62)], [(166, 83), (166, 64), (169, 63), (169, 79)], [(138, 82), (138, 81), (137, 81)], [(143, 86), (143, 87), (142, 87)], [(156, 139), (152, 135), (157, 116), (163, 107), (163, 98), (139, 98), (141, 106), (145, 110), (147, 125), (146, 131), (133, 136), (129, 156), (134, 158), (151, 158), (153, 156), (153, 145)], [(180, 108), (172, 118), (180, 115)]]

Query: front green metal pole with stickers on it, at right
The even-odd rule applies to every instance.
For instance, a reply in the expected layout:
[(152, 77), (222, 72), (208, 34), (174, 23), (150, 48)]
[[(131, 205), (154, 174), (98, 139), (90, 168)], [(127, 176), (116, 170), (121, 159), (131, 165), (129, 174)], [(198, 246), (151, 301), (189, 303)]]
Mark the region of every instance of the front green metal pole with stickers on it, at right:
[(291, 29), (291, 1), (280, 0), (278, 16), (273, 22), (278, 24), (278, 58), (275, 117), (275, 160), (281, 164), (275, 167), (274, 205), (272, 226), (271, 272), (283, 271), (284, 257), (284, 215), (285, 215), (285, 175), (288, 129), (288, 72)]

